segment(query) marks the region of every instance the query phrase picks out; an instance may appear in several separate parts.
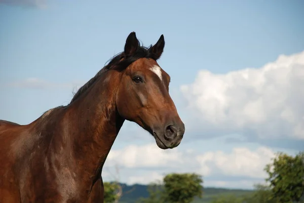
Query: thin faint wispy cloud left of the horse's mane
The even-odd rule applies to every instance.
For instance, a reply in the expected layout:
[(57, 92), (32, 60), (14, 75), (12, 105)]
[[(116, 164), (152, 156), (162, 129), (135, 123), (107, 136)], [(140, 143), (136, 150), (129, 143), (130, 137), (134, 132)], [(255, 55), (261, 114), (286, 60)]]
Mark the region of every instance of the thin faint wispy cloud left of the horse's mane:
[(19, 82), (11, 83), (9, 86), (17, 88), (29, 88), (29, 89), (52, 89), (52, 88), (68, 88), (73, 89), (75, 87), (81, 87), (83, 82), (73, 83), (51, 83), (46, 80), (36, 77), (26, 78)]

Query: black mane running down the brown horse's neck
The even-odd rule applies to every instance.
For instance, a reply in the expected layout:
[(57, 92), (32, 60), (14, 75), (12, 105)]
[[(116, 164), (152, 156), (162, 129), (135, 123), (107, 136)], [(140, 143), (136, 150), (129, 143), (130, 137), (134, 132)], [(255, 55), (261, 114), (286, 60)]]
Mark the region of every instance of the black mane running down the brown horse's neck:
[(134, 61), (136, 61), (137, 59), (140, 59), (140, 58), (151, 58), (151, 59), (157, 60), (157, 56), (155, 56), (151, 52), (151, 47), (152, 46), (150, 46), (148, 48), (140, 46), (140, 43), (138, 42), (138, 49), (133, 55), (126, 56), (124, 52), (121, 52), (121, 53), (117, 54), (116, 56), (113, 56), (111, 59), (109, 59), (109, 62), (107, 65), (105, 65), (101, 70), (99, 70), (94, 77), (92, 77), (85, 85), (83, 85), (77, 91), (77, 93), (74, 94), (70, 103), (77, 100), (88, 88), (90, 88), (96, 82), (96, 80), (99, 78), (99, 76), (102, 73), (106, 72), (107, 70), (115, 69), (118, 71), (122, 71), (122, 70), (126, 69), (131, 63), (133, 63)]

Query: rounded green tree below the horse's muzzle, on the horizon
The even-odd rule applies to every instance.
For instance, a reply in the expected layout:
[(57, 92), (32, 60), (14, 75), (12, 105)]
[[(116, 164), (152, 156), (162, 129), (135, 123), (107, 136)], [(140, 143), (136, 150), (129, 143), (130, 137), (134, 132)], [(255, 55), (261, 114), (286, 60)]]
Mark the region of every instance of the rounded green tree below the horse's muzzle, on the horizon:
[(197, 174), (168, 174), (164, 177), (163, 199), (168, 203), (189, 203), (202, 197), (203, 179)]

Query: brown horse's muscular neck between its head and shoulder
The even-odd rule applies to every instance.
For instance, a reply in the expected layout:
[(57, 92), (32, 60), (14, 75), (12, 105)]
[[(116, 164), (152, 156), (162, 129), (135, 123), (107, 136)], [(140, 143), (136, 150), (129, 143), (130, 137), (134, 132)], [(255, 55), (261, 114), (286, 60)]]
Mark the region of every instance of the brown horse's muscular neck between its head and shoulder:
[(92, 181), (100, 177), (107, 154), (124, 123), (116, 108), (118, 85), (112, 84), (118, 81), (117, 74), (103, 73), (70, 104), (66, 113), (68, 135), (73, 146), (71, 158), (77, 163), (77, 171), (87, 174), (82, 180)]

